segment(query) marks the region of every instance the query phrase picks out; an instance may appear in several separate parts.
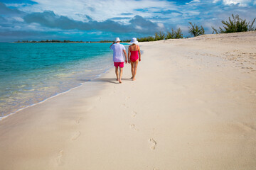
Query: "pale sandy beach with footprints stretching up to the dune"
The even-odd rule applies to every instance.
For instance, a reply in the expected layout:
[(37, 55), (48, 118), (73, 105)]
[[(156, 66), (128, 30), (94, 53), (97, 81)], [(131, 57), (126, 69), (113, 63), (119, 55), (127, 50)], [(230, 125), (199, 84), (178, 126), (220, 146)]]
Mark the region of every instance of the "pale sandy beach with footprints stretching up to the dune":
[(0, 122), (1, 170), (256, 169), (256, 32), (141, 42), (107, 74)]

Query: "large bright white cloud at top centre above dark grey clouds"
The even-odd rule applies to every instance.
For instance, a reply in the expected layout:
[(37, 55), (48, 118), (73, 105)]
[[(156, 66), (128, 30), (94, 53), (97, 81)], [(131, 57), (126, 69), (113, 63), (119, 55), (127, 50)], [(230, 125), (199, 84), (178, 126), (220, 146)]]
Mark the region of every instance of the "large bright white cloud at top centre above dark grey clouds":
[[(133, 13), (131, 17), (139, 15), (152, 17), (156, 11), (176, 10), (178, 7), (169, 1), (155, 0), (33, 0), (36, 4), (20, 6), (21, 11), (27, 13), (54, 11), (60, 16), (68, 16), (78, 21), (85, 21), (82, 15), (90, 16), (94, 21), (105, 21), (108, 18), (121, 17), (122, 13)], [(196, 0), (198, 1), (198, 0)], [(138, 9), (142, 9), (141, 11)], [(80, 13), (81, 15), (78, 15)], [(122, 20), (120, 20), (122, 21)], [(125, 21), (124, 21), (125, 22)]]

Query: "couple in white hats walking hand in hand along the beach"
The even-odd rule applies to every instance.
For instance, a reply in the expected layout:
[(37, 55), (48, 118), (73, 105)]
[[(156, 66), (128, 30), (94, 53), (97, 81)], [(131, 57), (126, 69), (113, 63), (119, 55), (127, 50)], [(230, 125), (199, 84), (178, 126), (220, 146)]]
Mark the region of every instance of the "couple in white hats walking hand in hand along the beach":
[[(132, 66), (132, 81), (135, 80), (135, 75), (137, 72), (138, 63), (141, 61), (141, 53), (139, 49), (139, 45), (137, 38), (132, 38), (132, 45), (129, 45), (128, 49), (128, 63), (131, 62)], [(115, 67), (115, 73), (117, 75), (117, 81), (122, 83), (122, 72), (124, 68), (124, 56), (125, 56), (125, 64), (127, 64), (127, 53), (125, 51), (124, 45), (120, 44), (120, 39), (115, 38), (112, 45), (110, 45), (110, 49), (113, 50), (113, 61)], [(123, 56), (124, 54), (124, 56)], [(119, 72), (118, 72), (119, 67)]]

